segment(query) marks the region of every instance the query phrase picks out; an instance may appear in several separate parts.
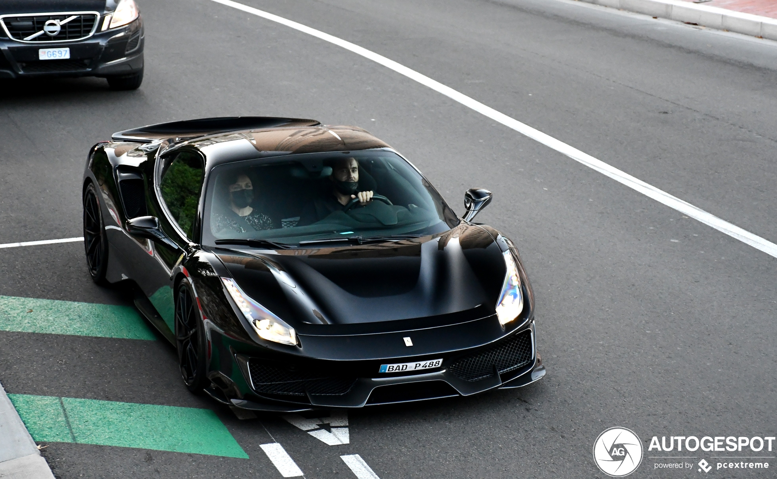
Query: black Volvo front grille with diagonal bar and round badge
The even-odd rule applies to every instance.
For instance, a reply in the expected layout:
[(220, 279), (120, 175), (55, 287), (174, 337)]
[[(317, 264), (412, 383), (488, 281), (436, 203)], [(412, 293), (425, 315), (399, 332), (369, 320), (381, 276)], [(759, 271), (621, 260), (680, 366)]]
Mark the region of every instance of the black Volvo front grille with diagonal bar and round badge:
[[(60, 26), (60, 31), (54, 36), (42, 33), (35, 38), (25, 40), (26, 38), (44, 30), (44, 25), (48, 20), (59, 20), (60, 22), (75, 16), (68, 23)], [(28, 41), (35, 43), (61, 42), (67, 40), (82, 40), (94, 33), (97, 25), (98, 15), (96, 13), (61, 13), (51, 15), (42, 13), (40, 15), (25, 16), (5, 16), (2, 18), (2, 25), (13, 40)]]

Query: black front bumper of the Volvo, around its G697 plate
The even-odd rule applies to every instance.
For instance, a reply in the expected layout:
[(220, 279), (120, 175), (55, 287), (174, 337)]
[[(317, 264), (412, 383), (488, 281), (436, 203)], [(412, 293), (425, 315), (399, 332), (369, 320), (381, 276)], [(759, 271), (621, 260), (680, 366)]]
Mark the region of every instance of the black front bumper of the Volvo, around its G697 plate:
[[(20, 43), (0, 36), (0, 78), (132, 75), (143, 68), (144, 43), (140, 18), (74, 42)], [(70, 48), (67, 60), (39, 60), (40, 48), (62, 47)]]

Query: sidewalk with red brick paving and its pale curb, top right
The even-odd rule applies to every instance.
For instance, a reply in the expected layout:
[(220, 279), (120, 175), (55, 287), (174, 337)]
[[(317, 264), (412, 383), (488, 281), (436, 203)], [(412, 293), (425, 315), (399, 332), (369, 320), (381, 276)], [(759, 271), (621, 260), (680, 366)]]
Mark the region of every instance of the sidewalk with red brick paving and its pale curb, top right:
[(582, 0), (653, 18), (670, 19), (777, 40), (777, 0)]

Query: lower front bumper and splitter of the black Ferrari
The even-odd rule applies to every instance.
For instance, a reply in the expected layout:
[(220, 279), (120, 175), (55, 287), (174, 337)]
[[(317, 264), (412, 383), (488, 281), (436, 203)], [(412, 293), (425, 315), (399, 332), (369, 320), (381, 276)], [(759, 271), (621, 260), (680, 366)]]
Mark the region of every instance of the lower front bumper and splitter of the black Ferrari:
[[(525, 336), (531, 338), (531, 351), (521, 352), (524, 354), (523, 359), (514, 366), (504, 364), (503, 361), (500, 363), (500, 359), (497, 359), (493, 352), (504, 350), (505, 347), (514, 344), (519, 338)], [(526, 346), (528, 347), (528, 342)], [(355, 371), (356, 374), (361, 373), (361, 377), (355, 377), (350, 382), (350, 386), (348, 382), (344, 384), (344, 387), (342, 383), (332, 384), (331, 381), (329, 385), (326, 384), (327, 380), (336, 380), (336, 378), (309, 380), (308, 386), (301, 387), (296, 391), (296, 396), (267, 394), (267, 389), (262, 390), (262, 385), (256, 384), (256, 378), (252, 379), (252, 367), (249, 363), (256, 358), (244, 353), (235, 354), (234, 350), (231, 352), (231, 356), (238, 365), (235, 373), (239, 374), (233, 373), (227, 376), (220, 372), (211, 373), (214, 386), (209, 388), (207, 392), (218, 401), (255, 411), (291, 412), (321, 408), (361, 408), (377, 404), (469, 396), (500, 387), (525, 386), (545, 376), (545, 366), (542, 366), (542, 359), (537, 354), (533, 321), (528, 321), (524, 326), (516, 328), (495, 342), (470, 349), (438, 353), (437, 356), (444, 357), (440, 370), (432, 370), (429, 373), (376, 377), (375, 373), (364, 374), (365, 365), (363, 364), (367, 363), (366, 367), (370, 371), (376, 371), (374, 369), (375, 359), (366, 362), (347, 362), (336, 366), (337, 373), (343, 374), (349, 370)], [(378, 359), (377, 363), (400, 363), (406, 362), (407, 359)], [(486, 374), (473, 374), (472, 367), (463, 371), (461, 367), (453, 366), (463, 364), (462, 361), (465, 361), (469, 366), (475, 365), (481, 370), (485, 367)], [(345, 374), (347, 375), (347, 373)], [(329, 390), (325, 394), (316, 394), (323, 392), (322, 389), (326, 387), (329, 387)], [(333, 387), (340, 387), (340, 390), (333, 390)], [(304, 393), (301, 393), (301, 390), (304, 390)]]

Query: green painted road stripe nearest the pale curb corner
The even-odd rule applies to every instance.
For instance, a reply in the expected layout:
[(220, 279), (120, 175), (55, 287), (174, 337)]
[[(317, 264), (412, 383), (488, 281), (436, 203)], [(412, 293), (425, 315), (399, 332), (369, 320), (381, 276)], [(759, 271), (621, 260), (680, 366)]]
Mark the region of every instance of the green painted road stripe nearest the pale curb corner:
[(9, 394), (39, 443), (135, 447), (248, 459), (211, 409)]

